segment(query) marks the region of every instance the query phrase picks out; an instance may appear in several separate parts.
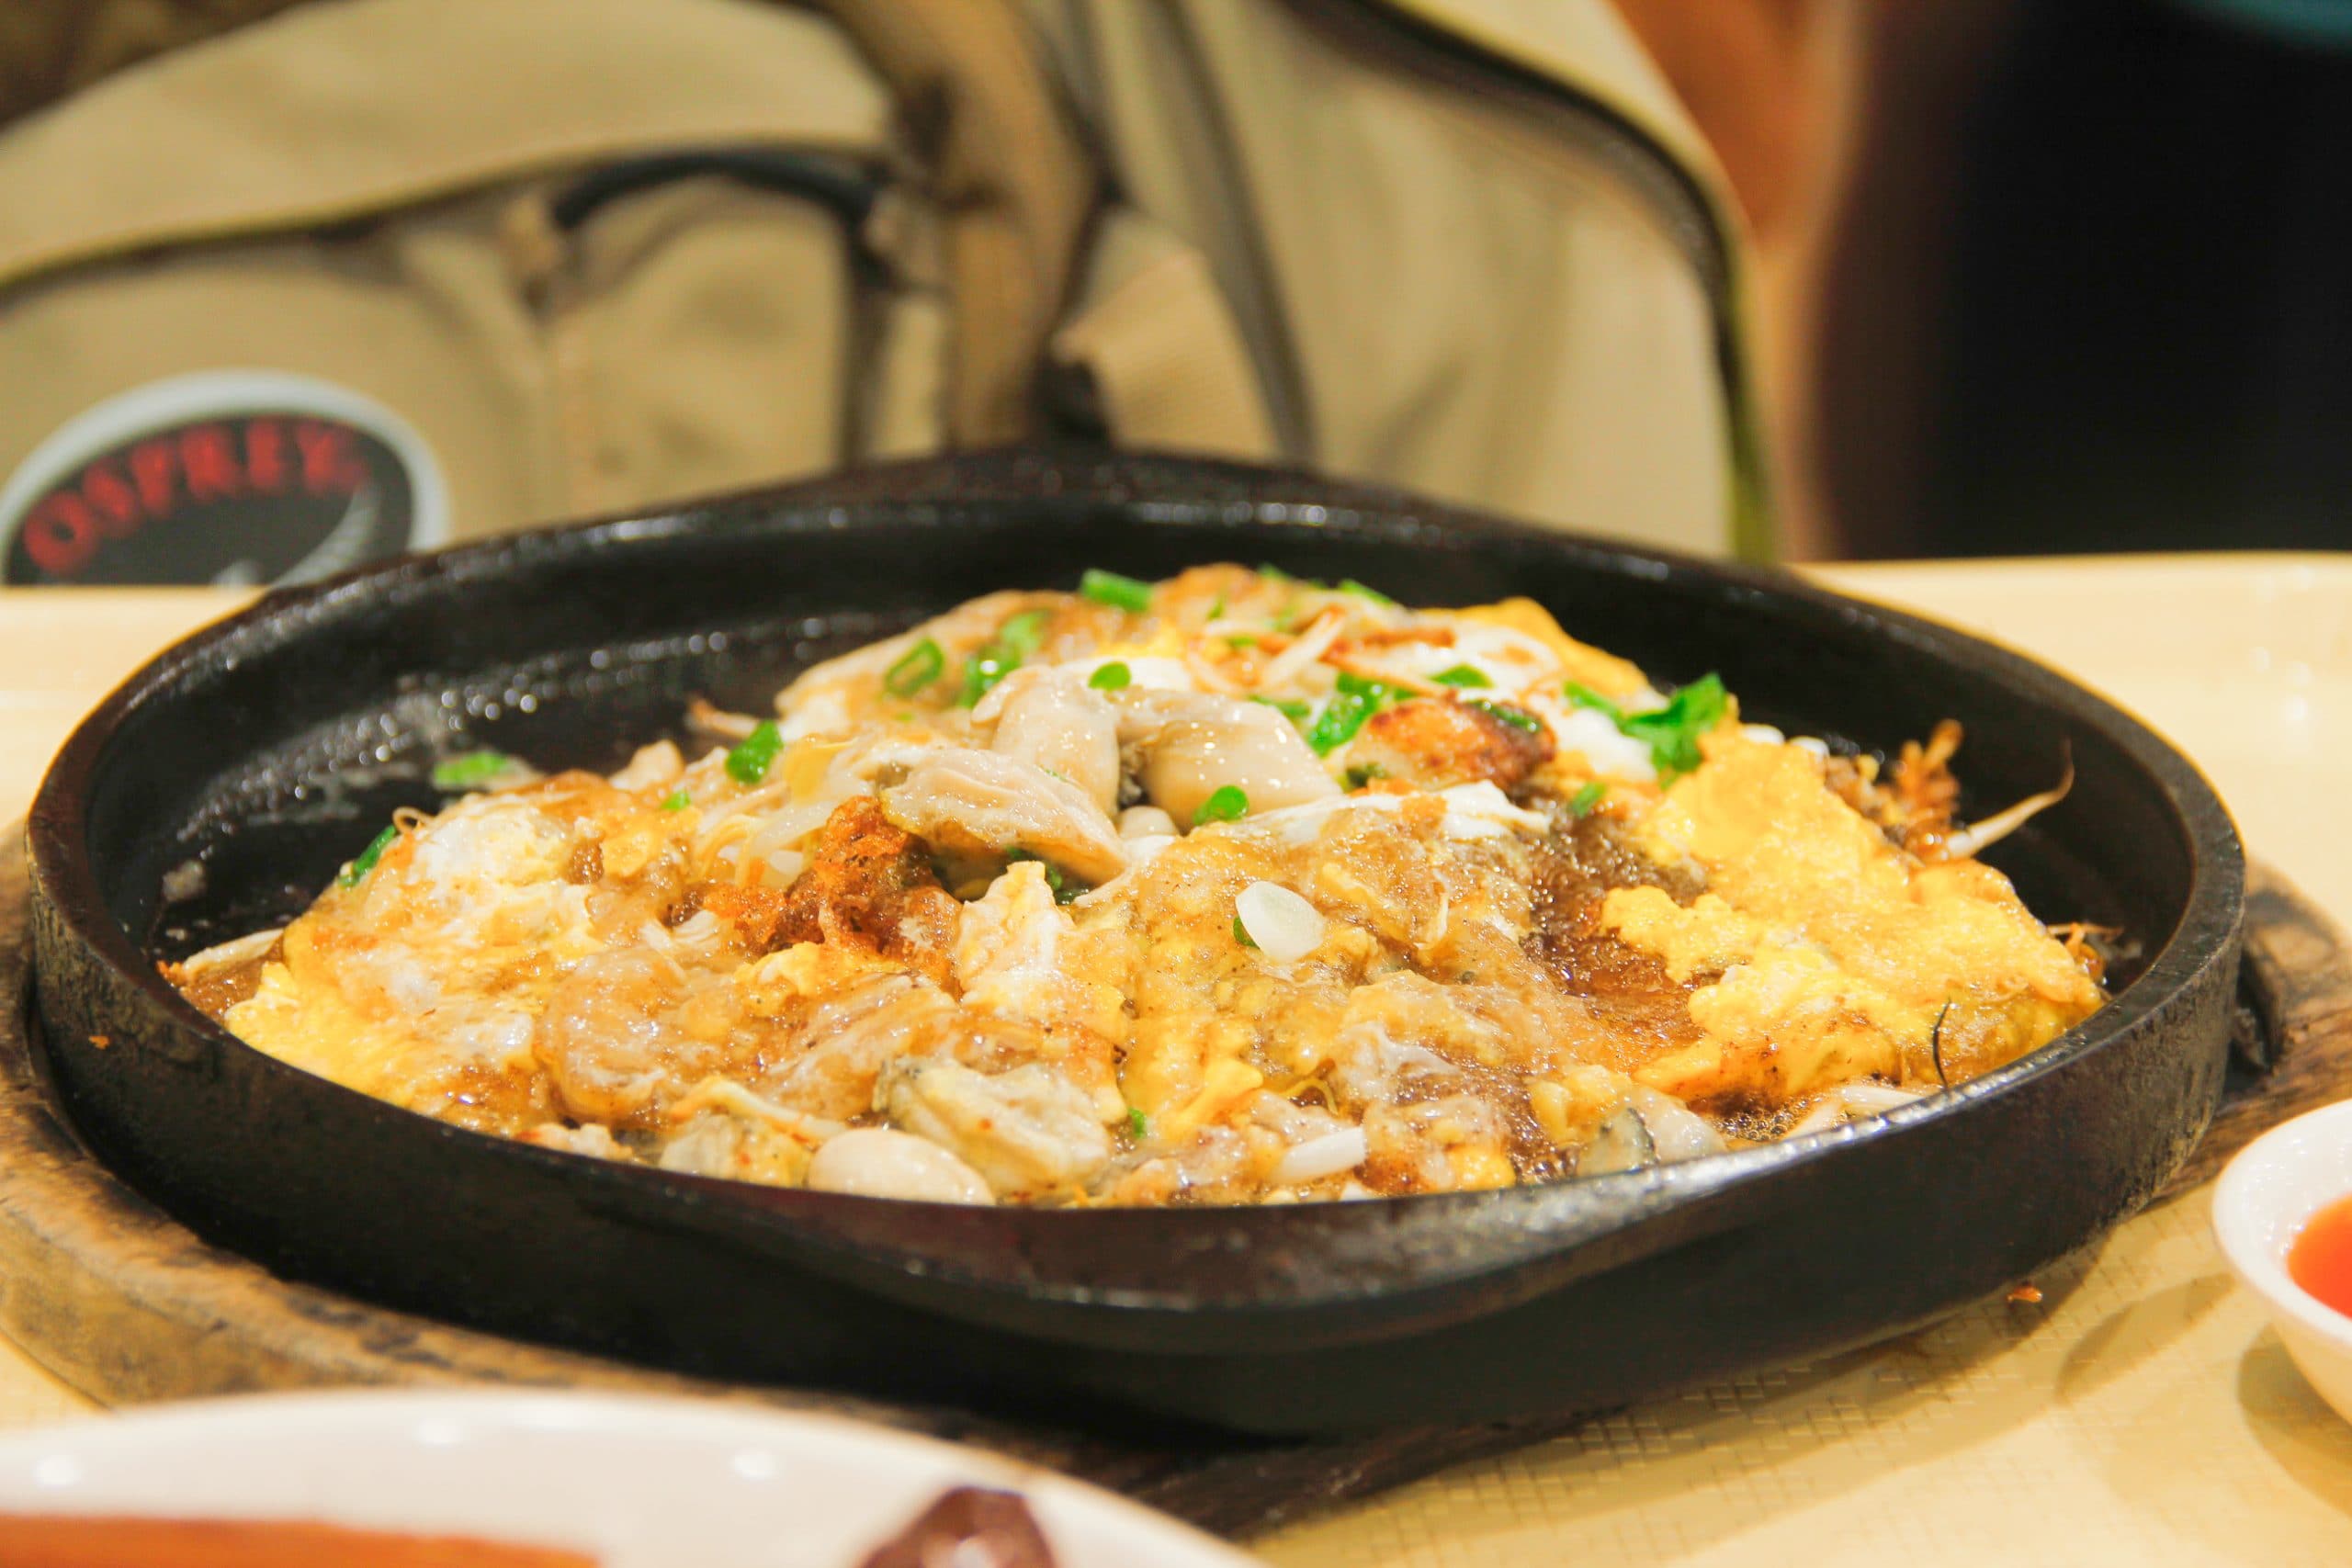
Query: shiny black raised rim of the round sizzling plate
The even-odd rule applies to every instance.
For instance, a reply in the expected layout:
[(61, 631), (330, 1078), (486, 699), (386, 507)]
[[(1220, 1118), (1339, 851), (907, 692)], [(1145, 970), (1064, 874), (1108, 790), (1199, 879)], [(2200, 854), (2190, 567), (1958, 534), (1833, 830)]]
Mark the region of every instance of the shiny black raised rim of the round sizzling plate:
[[(1242, 498), (1221, 498), (1211, 491), (1228, 487), (1244, 491)], [(1272, 494), (1270, 494), (1272, 491)], [(1289, 494), (1291, 498), (1279, 498)], [(2119, 990), (2100, 1011), (2082, 1025), (2067, 1030), (2039, 1051), (1971, 1079), (1959, 1088), (1926, 1095), (1882, 1117), (1844, 1124), (1804, 1138), (1788, 1138), (1750, 1150), (1733, 1150), (1670, 1166), (1649, 1166), (1606, 1178), (1543, 1182), (1475, 1194), (1416, 1194), (1406, 1199), (1374, 1199), (1371, 1204), (1315, 1204), (1287, 1208), (1287, 1215), (1334, 1211), (1357, 1211), (1362, 1218), (1392, 1218), (1392, 1229), (1446, 1232), (1456, 1220), (1510, 1211), (1517, 1246), (1470, 1260), (1446, 1260), (1423, 1265), (1411, 1279), (1369, 1279), (1359, 1286), (1319, 1288), (1268, 1302), (1263, 1295), (1237, 1300), (1202, 1298), (1181, 1286), (1171, 1291), (1120, 1291), (1101, 1286), (1068, 1286), (1018, 1276), (962, 1274), (910, 1258), (894, 1248), (861, 1248), (851, 1237), (833, 1232), (823, 1237), (837, 1253), (837, 1267), (861, 1286), (875, 1288), (875, 1269), (920, 1272), (922, 1284), (957, 1284), (983, 1295), (1000, 1295), (1014, 1305), (1065, 1305), (1091, 1312), (1145, 1314), (1169, 1312), (1192, 1314), (1202, 1309), (1247, 1307), (1275, 1314), (1329, 1314), (1345, 1307), (1385, 1307), (1381, 1316), (1392, 1316), (1402, 1298), (1458, 1298), (1482, 1284), (1489, 1293), (1479, 1312), (1501, 1309), (1517, 1300), (1571, 1284), (1592, 1272), (1613, 1269), (1651, 1251), (1677, 1246), (1736, 1220), (1738, 1197), (1764, 1187), (1766, 1178), (1835, 1161), (1842, 1152), (1875, 1145), (1924, 1124), (1943, 1124), (1966, 1114), (1985, 1100), (1997, 1100), (2018, 1088), (2060, 1072), (2082, 1058), (2098, 1053), (2107, 1044), (2147, 1027), (2159, 1013), (2180, 1004), (2211, 980), (2211, 971), (2234, 961), (2237, 936), (2244, 910), (2244, 851), (2218, 792), (2204, 773), (2171, 743), (2157, 736), (2136, 715), (2089, 686), (2042, 665), (1997, 642), (1947, 628), (1943, 623), (1912, 616), (1907, 611), (1839, 595), (1835, 590), (1795, 578), (1778, 569), (1757, 569), (1731, 562), (1710, 562), (1670, 550), (1625, 545), (1581, 534), (1536, 529), (1529, 524), (1501, 522), (1477, 512), (1465, 512), (1444, 503), (1409, 496), (1383, 487), (1334, 482), (1317, 475), (1279, 468), (1256, 468), (1244, 463), (1221, 463), (1171, 456), (1115, 456), (1080, 458), (1077, 463), (1037, 451), (995, 451), (950, 458), (917, 458), (910, 463), (877, 465), (823, 475), (809, 482), (687, 501), (659, 512), (623, 512), (602, 520), (586, 520), (529, 534), (510, 534), (485, 541), (449, 545), (428, 555), (397, 557), (360, 567), (325, 583), (278, 590), (256, 604), (226, 616), (155, 654), (122, 684), (118, 684), (80, 724), (49, 764), (40, 792), (28, 813), (28, 867), (35, 900), (47, 903), (66, 933), (94, 959), (103, 964), (111, 980), (129, 980), (136, 999), (148, 1009), (160, 1009), (160, 1020), (169, 1027), (193, 1032), (209, 1048), (233, 1048), (263, 1063), (266, 1070), (294, 1074), (308, 1091), (334, 1091), (365, 1105), (369, 1114), (397, 1117), (414, 1124), (409, 1131), (430, 1131), (442, 1138), (480, 1140), (499, 1159), (524, 1159), (562, 1180), (586, 1182), (590, 1190), (604, 1187), (630, 1218), (647, 1222), (652, 1215), (640, 1208), (694, 1208), (710, 1199), (731, 1199), (743, 1208), (762, 1211), (764, 1222), (788, 1227), (795, 1215), (781, 1208), (779, 1190), (753, 1182), (720, 1178), (684, 1178), (637, 1166), (614, 1166), (583, 1154), (539, 1150), (489, 1133), (437, 1121), (421, 1112), (395, 1107), (360, 1091), (343, 1088), (329, 1079), (318, 1079), (261, 1051), (205, 1018), (176, 990), (172, 990), (153, 961), (139, 950), (129, 933), (115, 924), (99, 886), (94, 856), (82, 844), (87, 818), (87, 792), (103, 762), (113, 733), (132, 719), (146, 703), (167, 701), (174, 679), (191, 668), (202, 668), (221, 658), (228, 649), (233, 658), (240, 644), (249, 651), (268, 651), (296, 642), (301, 635), (332, 628), (339, 614), (350, 614), (362, 602), (390, 609), (407, 595), (430, 597), (440, 585), (463, 592), (475, 576), (517, 576), (560, 562), (583, 559), (604, 550), (652, 548), (673, 536), (724, 534), (743, 529), (790, 538), (809, 531), (842, 531), (861, 527), (856, 512), (887, 508), (894, 524), (955, 527), (953, 512), (971, 505), (1018, 505), (1018, 503), (1084, 503), (1124, 508), (1138, 527), (1218, 524), (1240, 538), (1256, 524), (1315, 524), (1338, 522), (1334, 534), (1352, 534), (1383, 543), (1409, 543), (1444, 552), (1491, 552), (1541, 550), (1550, 557), (1571, 557), (1588, 569), (1613, 571), (1628, 581), (1665, 581), (1670, 576), (1698, 576), (1736, 595), (1795, 602), (1809, 614), (1828, 616), (1851, 632), (1889, 637), (1907, 644), (1940, 663), (1959, 665), (1985, 679), (2056, 710), (2079, 724), (2107, 736), (2136, 766), (2140, 766), (2161, 790), (2173, 827), (2183, 835), (2190, 860), (2187, 898), (2164, 947), (2147, 969)], [(388, 590), (388, 592), (383, 592)], [(383, 592), (383, 597), (376, 597)], [(553, 1164), (550, 1164), (553, 1161)], [(755, 1197), (757, 1194), (757, 1197)], [(1599, 1199), (1613, 1199), (1613, 1206)], [(844, 1229), (854, 1232), (856, 1215), (875, 1204), (898, 1211), (936, 1211), (953, 1206), (910, 1204), (903, 1199), (863, 1199), (849, 1194), (793, 1192), (793, 1199), (814, 1211), (840, 1211)], [(1611, 1208), (1604, 1225), (1576, 1211)], [(1364, 1215), (1374, 1211), (1374, 1215)], [(1712, 1211), (1712, 1213), (1710, 1213)], [(1040, 1208), (997, 1208), (993, 1215), (1018, 1215), (1014, 1225), (1056, 1227), (1112, 1227), (1157, 1225), (1207, 1229), (1230, 1225), (1237, 1215), (1265, 1213), (1251, 1206), (1216, 1208), (1091, 1208), (1080, 1213)], [(1658, 1227), (1651, 1220), (1682, 1213), (1682, 1227)], [(1051, 1215), (1049, 1220), (1044, 1215)], [(659, 1222), (659, 1220), (656, 1220)], [(1334, 1227), (1324, 1227), (1327, 1232)], [(1491, 1229), (1491, 1227), (1486, 1227)], [(1611, 1237), (1628, 1232), (1658, 1232), (1646, 1246), (1616, 1251), (1604, 1246)], [(1489, 1237), (1491, 1241), (1494, 1237)], [(804, 1260), (807, 1262), (807, 1260)], [(833, 1269), (828, 1269), (833, 1272)], [(1491, 1281), (1512, 1274), (1512, 1288), (1496, 1298)], [(915, 1284), (915, 1281), (910, 1281)], [(884, 1281), (887, 1288), (887, 1281)], [(924, 1293), (924, 1300), (931, 1300)], [(983, 1314), (993, 1316), (993, 1314)], [(1423, 1314), (1416, 1321), (1428, 1321)]]

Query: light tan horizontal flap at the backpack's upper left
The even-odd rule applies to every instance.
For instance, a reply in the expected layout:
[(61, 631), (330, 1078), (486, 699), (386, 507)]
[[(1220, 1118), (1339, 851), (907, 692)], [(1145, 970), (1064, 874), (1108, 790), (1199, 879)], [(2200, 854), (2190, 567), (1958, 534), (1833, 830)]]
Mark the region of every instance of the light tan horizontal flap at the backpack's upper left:
[(840, 33), (764, 0), (310, 5), (12, 127), (0, 282), (652, 148), (880, 155), (891, 108)]

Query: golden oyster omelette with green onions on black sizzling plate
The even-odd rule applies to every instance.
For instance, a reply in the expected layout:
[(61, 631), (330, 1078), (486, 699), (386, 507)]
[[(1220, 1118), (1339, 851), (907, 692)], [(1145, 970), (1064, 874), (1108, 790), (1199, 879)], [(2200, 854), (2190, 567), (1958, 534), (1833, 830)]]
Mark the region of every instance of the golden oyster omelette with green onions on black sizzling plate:
[(1287, 1204), (1867, 1117), (2103, 1001), (1891, 764), (1529, 599), (1200, 567), (995, 592), (609, 778), (470, 752), (169, 978), (395, 1105), (964, 1204)]

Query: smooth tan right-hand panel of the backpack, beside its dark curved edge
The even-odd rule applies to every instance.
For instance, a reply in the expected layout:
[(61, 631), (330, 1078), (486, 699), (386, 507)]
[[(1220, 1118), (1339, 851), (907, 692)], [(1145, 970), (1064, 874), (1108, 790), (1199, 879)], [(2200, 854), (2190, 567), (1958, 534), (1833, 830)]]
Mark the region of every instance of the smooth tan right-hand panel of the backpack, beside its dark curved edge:
[[(1675, 237), (1590, 150), (1334, 26), (1381, 9), (1033, 0), (1120, 188), (1209, 256), (1284, 456), (1729, 548), (1733, 409)], [(1604, 0), (1411, 9), (1696, 148)]]

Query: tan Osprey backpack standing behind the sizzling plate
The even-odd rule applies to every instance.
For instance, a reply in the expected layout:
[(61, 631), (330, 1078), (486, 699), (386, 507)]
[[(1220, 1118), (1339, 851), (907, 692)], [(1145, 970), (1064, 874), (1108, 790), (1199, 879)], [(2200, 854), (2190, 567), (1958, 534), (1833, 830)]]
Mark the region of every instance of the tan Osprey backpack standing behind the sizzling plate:
[(1606, 0), (14, 0), (0, 576), (1021, 440), (1759, 552), (1724, 214)]

